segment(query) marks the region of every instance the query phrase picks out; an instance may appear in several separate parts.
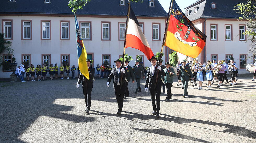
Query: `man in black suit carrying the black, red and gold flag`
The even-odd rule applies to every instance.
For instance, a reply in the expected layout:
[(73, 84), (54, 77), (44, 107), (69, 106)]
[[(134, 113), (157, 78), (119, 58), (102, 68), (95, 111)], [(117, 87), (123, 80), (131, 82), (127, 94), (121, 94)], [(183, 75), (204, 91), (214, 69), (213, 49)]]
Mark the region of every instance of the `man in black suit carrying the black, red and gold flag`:
[[(160, 94), (161, 94), (161, 86), (162, 86), (162, 78), (161, 76), (165, 76), (164, 70), (161, 68), (161, 66), (156, 65), (156, 58), (152, 56), (149, 61), (151, 62), (152, 66), (147, 69), (147, 76), (146, 76), (146, 83), (145, 83), (145, 91), (149, 92), (151, 96), (152, 106), (153, 106), (153, 112), (152, 114), (156, 114), (156, 118), (159, 118), (159, 110), (160, 110)], [(158, 77), (157, 75), (157, 71)], [(157, 78), (157, 82), (156, 82)], [(156, 82), (156, 83), (155, 83)], [(156, 105), (155, 105), (155, 97), (156, 97)]]

